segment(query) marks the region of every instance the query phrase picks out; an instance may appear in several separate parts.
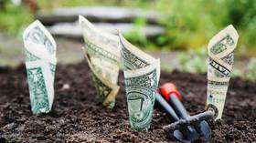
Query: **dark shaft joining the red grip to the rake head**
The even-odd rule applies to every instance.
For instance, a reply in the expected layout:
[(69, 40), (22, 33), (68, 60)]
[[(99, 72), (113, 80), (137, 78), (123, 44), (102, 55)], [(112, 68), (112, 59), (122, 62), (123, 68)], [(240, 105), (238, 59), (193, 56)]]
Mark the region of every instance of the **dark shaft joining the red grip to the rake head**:
[(170, 95), (169, 100), (169, 103), (171, 104), (172, 107), (174, 107), (178, 117), (183, 119), (187, 119), (188, 117), (190, 117), (189, 114), (187, 114), (186, 108), (183, 106), (183, 104), (180, 102), (179, 98), (176, 97), (175, 94)]

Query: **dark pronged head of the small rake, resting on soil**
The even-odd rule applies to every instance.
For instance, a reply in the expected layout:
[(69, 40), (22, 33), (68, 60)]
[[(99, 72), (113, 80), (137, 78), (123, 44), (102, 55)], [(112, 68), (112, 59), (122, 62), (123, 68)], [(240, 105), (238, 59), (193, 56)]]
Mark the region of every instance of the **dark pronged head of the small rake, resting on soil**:
[(213, 120), (213, 114), (209, 111), (180, 119), (164, 127), (165, 133), (169, 138), (176, 138), (181, 142), (193, 142), (201, 139), (208, 142), (211, 138), (211, 129), (208, 122)]

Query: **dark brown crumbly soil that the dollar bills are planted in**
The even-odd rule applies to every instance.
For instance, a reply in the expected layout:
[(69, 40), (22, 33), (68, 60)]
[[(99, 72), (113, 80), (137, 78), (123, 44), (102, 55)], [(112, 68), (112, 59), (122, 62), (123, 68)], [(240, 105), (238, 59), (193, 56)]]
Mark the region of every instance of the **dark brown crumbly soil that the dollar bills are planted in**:
[[(97, 102), (86, 63), (58, 66), (49, 114), (32, 115), (25, 66), (0, 67), (0, 81), (0, 142), (174, 142), (162, 129), (171, 121), (158, 108), (149, 131), (129, 128), (123, 73), (112, 111)], [(191, 115), (204, 111), (206, 75), (162, 72), (160, 83), (168, 81), (176, 83)], [(255, 93), (255, 83), (231, 79), (223, 120), (211, 125), (211, 142), (256, 141)]]

